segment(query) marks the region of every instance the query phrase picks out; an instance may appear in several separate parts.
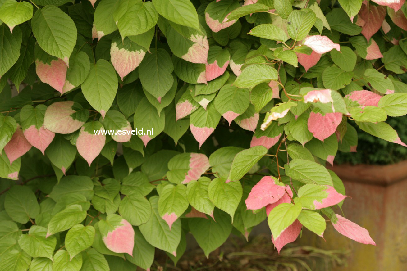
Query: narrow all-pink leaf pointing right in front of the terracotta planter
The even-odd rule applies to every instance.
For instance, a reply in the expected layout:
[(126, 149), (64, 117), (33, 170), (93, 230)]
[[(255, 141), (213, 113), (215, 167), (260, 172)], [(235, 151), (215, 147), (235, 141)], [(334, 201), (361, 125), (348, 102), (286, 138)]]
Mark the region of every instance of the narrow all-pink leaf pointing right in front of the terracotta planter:
[(367, 229), (362, 228), (339, 214), (336, 214), (336, 217), (338, 221), (337, 223), (332, 223), (332, 225), (340, 234), (365, 245), (376, 245)]

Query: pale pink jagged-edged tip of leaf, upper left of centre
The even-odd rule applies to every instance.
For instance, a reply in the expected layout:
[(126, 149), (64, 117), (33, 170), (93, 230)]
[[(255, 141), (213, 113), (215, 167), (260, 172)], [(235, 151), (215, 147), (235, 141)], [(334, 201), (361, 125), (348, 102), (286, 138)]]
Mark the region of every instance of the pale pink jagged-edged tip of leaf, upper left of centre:
[(119, 49), (116, 42), (113, 42), (110, 47), (110, 61), (122, 81), (127, 74), (140, 65), (144, 55), (146, 55), (146, 52), (143, 50), (131, 51), (125, 48)]

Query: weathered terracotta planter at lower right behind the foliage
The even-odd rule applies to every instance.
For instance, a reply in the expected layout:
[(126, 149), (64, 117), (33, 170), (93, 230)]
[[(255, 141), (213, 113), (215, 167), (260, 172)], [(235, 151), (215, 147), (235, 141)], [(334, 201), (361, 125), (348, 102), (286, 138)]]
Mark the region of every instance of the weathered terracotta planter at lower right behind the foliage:
[[(407, 270), (407, 161), (398, 164), (335, 165), (342, 179), (346, 218), (368, 229), (377, 247), (350, 240), (329, 224), (324, 238), (304, 230), (300, 243), (327, 249), (348, 249), (348, 266), (335, 271)], [(336, 209), (338, 214), (340, 210)]]

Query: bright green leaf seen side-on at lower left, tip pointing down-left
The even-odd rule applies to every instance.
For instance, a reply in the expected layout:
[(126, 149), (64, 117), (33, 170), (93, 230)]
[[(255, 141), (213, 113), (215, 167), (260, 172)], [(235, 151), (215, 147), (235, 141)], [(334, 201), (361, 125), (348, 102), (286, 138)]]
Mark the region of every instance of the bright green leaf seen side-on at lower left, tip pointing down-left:
[(81, 205), (70, 205), (65, 208), (65, 210), (58, 212), (51, 218), (50, 222), (48, 223), (48, 232), (46, 237), (57, 232), (63, 232), (70, 229), (74, 225), (81, 223), (85, 218), (86, 211), (82, 210)]

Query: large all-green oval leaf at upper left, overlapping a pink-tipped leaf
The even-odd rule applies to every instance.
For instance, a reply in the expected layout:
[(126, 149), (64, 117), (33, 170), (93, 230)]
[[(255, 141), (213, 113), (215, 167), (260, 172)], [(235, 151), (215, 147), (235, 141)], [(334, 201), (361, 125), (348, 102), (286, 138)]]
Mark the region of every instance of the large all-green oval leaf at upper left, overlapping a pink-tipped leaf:
[(77, 28), (71, 17), (48, 5), (35, 11), (31, 26), (39, 47), (68, 65), (77, 40)]

